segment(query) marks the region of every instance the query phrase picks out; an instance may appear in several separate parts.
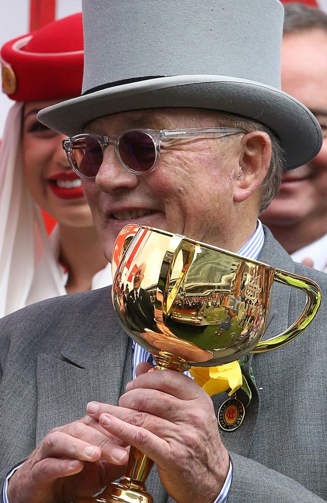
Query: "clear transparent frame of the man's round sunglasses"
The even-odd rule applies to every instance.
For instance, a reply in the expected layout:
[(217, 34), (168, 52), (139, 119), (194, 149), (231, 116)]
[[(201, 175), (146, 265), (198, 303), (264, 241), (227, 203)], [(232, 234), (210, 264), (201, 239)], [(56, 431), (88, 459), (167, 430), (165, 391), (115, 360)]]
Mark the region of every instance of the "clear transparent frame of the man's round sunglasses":
[[(154, 152), (155, 152), (155, 157), (152, 166), (150, 169), (146, 171), (135, 171), (132, 170), (122, 159), (120, 152), (119, 152), (119, 142), (121, 138), (127, 134), (127, 133), (132, 133), (132, 132), (140, 132), (146, 134), (153, 143), (154, 146)], [(91, 180), (93, 178), (96, 178), (97, 175), (93, 177), (88, 177), (86, 175), (83, 175), (78, 171), (78, 166), (75, 163), (74, 156), (73, 156), (73, 150), (81, 149), (76, 146), (75, 141), (80, 141), (86, 138), (93, 138), (98, 141), (102, 154), (104, 155), (105, 149), (107, 148), (108, 145), (115, 145), (115, 154), (121, 163), (121, 165), (127, 170), (129, 173), (133, 173), (134, 175), (141, 176), (141, 175), (147, 175), (148, 173), (151, 173), (159, 160), (159, 155), (160, 155), (160, 145), (162, 141), (165, 140), (173, 140), (173, 139), (200, 139), (200, 138), (222, 138), (224, 136), (231, 136), (234, 134), (246, 134), (247, 131), (244, 129), (236, 129), (236, 128), (225, 128), (225, 127), (211, 127), (211, 128), (191, 128), (191, 129), (128, 129), (126, 131), (123, 131), (117, 136), (109, 136), (104, 135), (104, 136), (99, 136), (96, 134), (89, 134), (89, 133), (81, 133), (81, 134), (76, 134), (74, 136), (71, 136), (70, 138), (66, 138), (62, 140), (62, 148), (66, 152), (68, 162), (70, 166), (72, 167), (73, 171), (76, 173), (76, 175), (80, 178), (83, 178), (85, 180)], [(82, 149), (81, 149), (82, 150)], [(100, 169), (100, 168), (99, 168)]]

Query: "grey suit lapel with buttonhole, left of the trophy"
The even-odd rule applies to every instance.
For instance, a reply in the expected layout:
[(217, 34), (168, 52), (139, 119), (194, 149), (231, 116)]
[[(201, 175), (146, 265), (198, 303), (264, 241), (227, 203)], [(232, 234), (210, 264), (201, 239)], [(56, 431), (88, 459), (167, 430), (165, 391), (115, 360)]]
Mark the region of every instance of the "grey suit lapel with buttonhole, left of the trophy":
[(36, 442), (56, 426), (86, 414), (90, 400), (117, 404), (128, 337), (111, 306), (98, 306), (72, 331), (60, 358), (37, 361)]

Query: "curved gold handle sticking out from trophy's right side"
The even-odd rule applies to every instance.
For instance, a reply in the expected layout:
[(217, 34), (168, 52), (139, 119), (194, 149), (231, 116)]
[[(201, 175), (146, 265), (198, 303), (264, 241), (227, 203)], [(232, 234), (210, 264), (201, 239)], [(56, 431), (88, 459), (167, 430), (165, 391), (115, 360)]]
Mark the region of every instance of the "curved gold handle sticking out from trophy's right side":
[(251, 353), (271, 351), (295, 339), (314, 318), (321, 302), (321, 290), (319, 286), (308, 278), (275, 269), (274, 280), (284, 285), (294, 286), (295, 288), (303, 290), (306, 294), (306, 304), (300, 316), (289, 328), (278, 336), (272, 337), (267, 341), (261, 341)]

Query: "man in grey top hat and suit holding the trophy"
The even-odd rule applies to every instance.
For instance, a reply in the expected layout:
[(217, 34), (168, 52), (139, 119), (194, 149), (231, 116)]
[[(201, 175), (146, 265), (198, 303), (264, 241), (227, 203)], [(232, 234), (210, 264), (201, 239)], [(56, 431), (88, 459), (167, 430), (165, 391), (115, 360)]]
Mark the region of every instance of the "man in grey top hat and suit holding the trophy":
[[(65, 148), (106, 256), (125, 224), (142, 223), (310, 275), (325, 295), (324, 276), (295, 265), (257, 220), (278, 190), (282, 155), (291, 169), (321, 144), (312, 114), (279, 89), (278, 0), (97, 0), (83, 9), (84, 95), (40, 119), (71, 137)], [(265, 337), (302, 304), (296, 289), (276, 284)], [(126, 471), (132, 445), (156, 464), (147, 487), (159, 503), (322, 501), (326, 321), (324, 301), (292, 345), (250, 356), (252, 400), (239, 429), (225, 432), (223, 394), (211, 400), (189, 377), (147, 373), (144, 362), (128, 382), (137, 352), (109, 289), (5, 318), (3, 498), (89, 501)]]

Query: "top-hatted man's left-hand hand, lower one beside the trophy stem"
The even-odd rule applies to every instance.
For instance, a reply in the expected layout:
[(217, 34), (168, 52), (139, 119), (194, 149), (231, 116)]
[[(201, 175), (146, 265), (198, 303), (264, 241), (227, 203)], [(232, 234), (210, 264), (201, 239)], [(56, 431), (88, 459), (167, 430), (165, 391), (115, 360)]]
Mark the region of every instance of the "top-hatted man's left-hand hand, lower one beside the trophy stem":
[(92, 496), (125, 472), (126, 444), (89, 416), (52, 430), (9, 480), (10, 503)]

